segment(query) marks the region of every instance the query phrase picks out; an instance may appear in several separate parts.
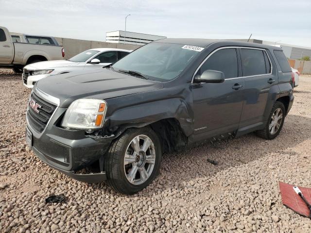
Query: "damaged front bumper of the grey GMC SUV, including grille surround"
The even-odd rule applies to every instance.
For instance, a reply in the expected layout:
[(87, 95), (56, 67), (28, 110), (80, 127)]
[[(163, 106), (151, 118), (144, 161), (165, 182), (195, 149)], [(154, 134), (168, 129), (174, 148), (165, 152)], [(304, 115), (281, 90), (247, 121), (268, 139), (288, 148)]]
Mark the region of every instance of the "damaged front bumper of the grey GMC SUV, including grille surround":
[[(57, 122), (65, 111), (65, 108), (57, 107), (41, 133), (35, 130), (30, 118), (26, 116), (26, 127), (31, 134), (29, 145), (31, 150), (44, 163), (75, 180), (86, 183), (105, 181), (104, 154), (110, 147), (114, 135), (96, 137), (88, 135), (84, 130), (67, 130), (59, 127)], [(88, 174), (77, 173), (89, 167), (92, 169)]]

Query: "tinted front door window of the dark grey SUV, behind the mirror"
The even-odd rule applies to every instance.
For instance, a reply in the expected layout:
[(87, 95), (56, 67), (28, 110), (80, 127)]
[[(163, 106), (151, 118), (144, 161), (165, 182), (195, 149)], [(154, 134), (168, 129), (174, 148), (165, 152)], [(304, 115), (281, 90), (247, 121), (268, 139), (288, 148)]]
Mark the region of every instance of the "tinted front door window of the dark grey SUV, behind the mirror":
[(225, 79), (238, 77), (238, 58), (236, 49), (222, 49), (213, 53), (202, 65), (197, 74), (201, 75), (205, 70), (222, 71)]

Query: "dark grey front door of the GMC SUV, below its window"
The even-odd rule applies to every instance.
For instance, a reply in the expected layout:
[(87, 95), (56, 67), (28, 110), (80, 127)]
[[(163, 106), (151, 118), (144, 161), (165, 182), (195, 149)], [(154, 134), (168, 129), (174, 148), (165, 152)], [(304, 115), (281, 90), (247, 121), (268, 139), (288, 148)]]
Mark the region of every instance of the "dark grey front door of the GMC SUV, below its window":
[[(234, 86), (242, 85), (239, 89)], [(235, 131), (239, 127), (243, 106), (242, 78), (224, 83), (192, 84), (194, 134), (206, 138)]]

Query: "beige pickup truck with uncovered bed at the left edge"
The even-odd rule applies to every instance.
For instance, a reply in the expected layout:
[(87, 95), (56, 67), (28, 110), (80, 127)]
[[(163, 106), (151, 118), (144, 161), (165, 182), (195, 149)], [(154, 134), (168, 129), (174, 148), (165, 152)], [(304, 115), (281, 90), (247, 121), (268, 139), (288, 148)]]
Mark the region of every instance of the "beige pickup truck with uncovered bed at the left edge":
[(61, 60), (65, 57), (62, 46), (13, 42), (9, 31), (0, 26), (0, 67), (13, 68), (22, 73), (28, 64)]

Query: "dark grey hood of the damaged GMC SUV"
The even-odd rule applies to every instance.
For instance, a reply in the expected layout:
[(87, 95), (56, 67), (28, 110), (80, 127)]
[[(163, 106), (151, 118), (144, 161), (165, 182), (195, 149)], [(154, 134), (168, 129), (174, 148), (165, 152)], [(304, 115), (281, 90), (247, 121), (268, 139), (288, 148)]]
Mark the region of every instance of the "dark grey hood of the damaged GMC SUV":
[(102, 69), (53, 75), (48, 79), (39, 80), (36, 88), (60, 99), (60, 107), (67, 108), (73, 100), (81, 98), (107, 100), (162, 89), (163, 83)]

